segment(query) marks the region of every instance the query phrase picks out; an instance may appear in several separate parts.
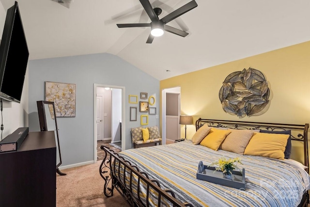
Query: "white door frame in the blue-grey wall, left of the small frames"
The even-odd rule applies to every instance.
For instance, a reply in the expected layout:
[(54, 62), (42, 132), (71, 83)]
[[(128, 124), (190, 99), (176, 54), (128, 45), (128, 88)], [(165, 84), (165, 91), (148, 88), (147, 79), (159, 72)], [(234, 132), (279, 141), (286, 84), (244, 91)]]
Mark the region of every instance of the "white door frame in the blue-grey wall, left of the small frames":
[[(117, 88), (122, 90), (122, 151), (125, 150), (125, 87), (116, 85), (93, 84), (93, 160), (97, 162), (97, 124), (96, 124), (96, 107), (97, 107), (97, 88)], [(112, 115), (113, 116), (113, 115)]]

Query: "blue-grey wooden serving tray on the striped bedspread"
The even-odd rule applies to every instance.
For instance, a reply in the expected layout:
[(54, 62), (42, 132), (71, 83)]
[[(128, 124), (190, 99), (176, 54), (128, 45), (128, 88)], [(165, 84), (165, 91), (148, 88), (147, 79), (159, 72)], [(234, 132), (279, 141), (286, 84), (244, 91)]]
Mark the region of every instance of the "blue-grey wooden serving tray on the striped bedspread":
[(196, 178), (208, 182), (216, 183), (223, 186), (228, 186), (240, 190), (246, 189), (246, 171), (243, 168), (242, 174), (239, 171), (233, 171), (233, 179), (224, 177), (222, 171), (215, 171), (215, 167), (204, 165), (202, 161), (199, 162)]

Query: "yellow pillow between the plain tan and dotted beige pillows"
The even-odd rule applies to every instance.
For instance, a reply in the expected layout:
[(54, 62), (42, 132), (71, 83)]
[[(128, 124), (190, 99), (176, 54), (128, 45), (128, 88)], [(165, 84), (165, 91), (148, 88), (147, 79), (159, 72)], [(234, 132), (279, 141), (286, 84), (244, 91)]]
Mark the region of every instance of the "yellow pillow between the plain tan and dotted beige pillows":
[(208, 135), (202, 140), (200, 144), (217, 151), (219, 145), (223, 142), (226, 136), (229, 135), (231, 132), (232, 131), (229, 131), (229, 130), (211, 128)]

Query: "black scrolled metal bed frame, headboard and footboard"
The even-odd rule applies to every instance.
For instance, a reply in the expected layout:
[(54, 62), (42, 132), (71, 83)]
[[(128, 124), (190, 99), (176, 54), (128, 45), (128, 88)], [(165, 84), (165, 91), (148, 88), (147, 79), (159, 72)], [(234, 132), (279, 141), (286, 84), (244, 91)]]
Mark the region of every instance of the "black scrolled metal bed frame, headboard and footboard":
[[(195, 125), (196, 131), (202, 125), (207, 124), (210, 127), (227, 127), (232, 129), (263, 129), (270, 131), (278, 130), (292, 130), (296, 133), (291, 135), (291, 139), (303, 142), (304, 145), (304, 165), (309, 167), (308, 156), (308, 129), (309, 124), (295, 125), (295, 124), (276, 124), (263, 122), (243, 122), (243, 121), (225, 121), (214, 119), (199, 118)], [(298, 131), (301, 131), (298, 133)], [(139, 168), (129, 161), (125, 160), (121, 155), (115, 153), (109, 147), (102, 145), (100, 147), (105, 151), (105, 157), (99, 168), (99, 173), (104, 179), (104, 194), (107, 197), (113, 196), (113, 190), (116, 189), (124, 198), (124, 200), (132, 207), (148, 207), (150, 206), (149, 197), (152, 189), (152, 195), (157, 195), (157, 205), (162, 205), (162, 200), (168, 201), (173, 207), (193, 207), (190, 203), (181, 203), (175, 198), (175, 194), (170, 189), (162, 189), (158, 181), (149, 177), (145, 172), (141, 172)], [(124, 169), (124, 170), (121, 170)], [(309, 168), (306, 169), (309, 173)], [(128, 173), (129, 172), (129, 173)], [(130, 175), (129, 183), (125, 182), (125, 174)], [(138, 187), (137, 193), (133, 193), (133, 177), (137, 178)], [(123, 178), (123, 179), (122, 179)], [(140, 197), (140, 182), (146, 184), (146, 198)], [(155, 194), (154, 194), (155, 191)], [(307, 207), (309, 204), (309, 193), (304, 193), (302, 200), (298, 207)]]

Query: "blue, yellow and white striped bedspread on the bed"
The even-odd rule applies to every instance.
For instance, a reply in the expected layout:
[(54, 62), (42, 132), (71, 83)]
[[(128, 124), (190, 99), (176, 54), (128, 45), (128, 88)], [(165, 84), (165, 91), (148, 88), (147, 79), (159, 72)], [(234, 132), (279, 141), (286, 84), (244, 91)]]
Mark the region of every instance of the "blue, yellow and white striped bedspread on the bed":
[[(129, 149), (120, 155), (157, 179), (162, 189), (171, 189), (178, 200), (195, 207), (296, 207), (309, 190), (310, 176), (294, 163), (214, 151), (191, 141)], [(241, 159), (245, 190), (196, 178), (199, 161), (209, 165), (223, 156)]]

